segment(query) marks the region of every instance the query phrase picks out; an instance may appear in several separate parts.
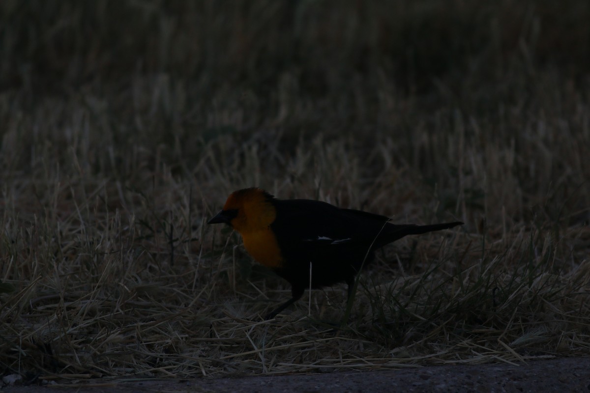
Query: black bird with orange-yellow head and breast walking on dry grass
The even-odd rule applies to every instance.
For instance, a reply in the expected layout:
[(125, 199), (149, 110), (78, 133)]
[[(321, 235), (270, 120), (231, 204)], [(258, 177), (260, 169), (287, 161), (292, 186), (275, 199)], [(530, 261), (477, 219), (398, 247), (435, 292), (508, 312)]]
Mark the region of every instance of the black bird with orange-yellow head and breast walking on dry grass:
[(305, 289), (344, 282), (350, 299), (356, 275), (371, 262), (375, 250), (406, 235), (463, 224), (393, 224), (390, 220), (317, 200), (281, 200), (251, 187), (232, 192), (208, 224), (231, 226), (258, 263), (291, 284), (291, 298), (268, 313), (268, 320), (297, 302)]

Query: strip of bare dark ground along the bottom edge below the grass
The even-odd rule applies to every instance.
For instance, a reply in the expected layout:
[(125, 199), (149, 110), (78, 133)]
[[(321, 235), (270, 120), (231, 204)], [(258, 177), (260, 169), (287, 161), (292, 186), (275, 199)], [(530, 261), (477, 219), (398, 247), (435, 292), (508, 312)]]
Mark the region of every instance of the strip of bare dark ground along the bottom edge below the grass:
[(510, 364), (446, 365), (370, 372), (221, 379), (97, 380), (3, 393), (76, 392), (590, 392), (590, 357)]

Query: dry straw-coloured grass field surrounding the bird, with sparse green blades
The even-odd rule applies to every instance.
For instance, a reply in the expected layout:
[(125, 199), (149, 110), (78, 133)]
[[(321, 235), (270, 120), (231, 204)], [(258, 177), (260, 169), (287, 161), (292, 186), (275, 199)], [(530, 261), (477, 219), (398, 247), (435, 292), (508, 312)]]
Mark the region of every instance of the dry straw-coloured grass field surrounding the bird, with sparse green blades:
[[(590, 352), (590, 3), (0, 2), (0, 368), (227, 377)], [(396, 223), (290, 296), (237, 189)], [(335, 328), (337, 326), (337, 328)]]

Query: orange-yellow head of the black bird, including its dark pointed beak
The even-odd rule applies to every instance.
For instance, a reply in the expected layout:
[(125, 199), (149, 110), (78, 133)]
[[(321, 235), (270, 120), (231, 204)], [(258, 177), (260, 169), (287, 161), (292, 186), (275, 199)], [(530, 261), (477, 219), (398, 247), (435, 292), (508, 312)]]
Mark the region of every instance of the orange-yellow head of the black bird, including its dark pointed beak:
[(277, 216), (274, 197), (258, 188), (234, 191), (225, 201), (223, 210), (208, 224), (226, 223), (242, 235), (268, 229)]

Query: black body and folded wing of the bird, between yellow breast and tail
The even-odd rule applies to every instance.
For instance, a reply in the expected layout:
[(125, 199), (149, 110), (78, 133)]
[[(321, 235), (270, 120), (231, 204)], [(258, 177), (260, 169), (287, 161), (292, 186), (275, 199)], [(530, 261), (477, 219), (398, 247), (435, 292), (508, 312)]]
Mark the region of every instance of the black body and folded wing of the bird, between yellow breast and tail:
[(271, 229), (286, 261), (278, 273), (301, 284), (309, 280), (312, 263), (313, 287), (350, 282), (363, 260), (372, 259), (373, 240), (387, 220), (314, 200), (274, 203), (277, 217)]

